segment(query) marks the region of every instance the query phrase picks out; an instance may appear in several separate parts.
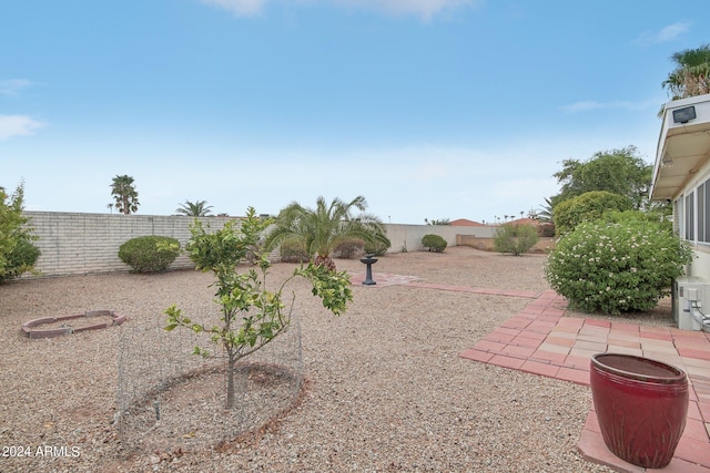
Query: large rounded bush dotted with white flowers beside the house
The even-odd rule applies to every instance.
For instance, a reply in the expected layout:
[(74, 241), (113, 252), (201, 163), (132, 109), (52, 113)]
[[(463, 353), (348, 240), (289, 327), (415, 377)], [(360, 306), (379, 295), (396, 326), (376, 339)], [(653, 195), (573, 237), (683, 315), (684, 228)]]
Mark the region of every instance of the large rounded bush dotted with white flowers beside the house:
[(545, 276), (570, 308), (619, 315), (656, 307), (691, 261), (690, 246), (662, 223), (586, 222), (557, 241)]

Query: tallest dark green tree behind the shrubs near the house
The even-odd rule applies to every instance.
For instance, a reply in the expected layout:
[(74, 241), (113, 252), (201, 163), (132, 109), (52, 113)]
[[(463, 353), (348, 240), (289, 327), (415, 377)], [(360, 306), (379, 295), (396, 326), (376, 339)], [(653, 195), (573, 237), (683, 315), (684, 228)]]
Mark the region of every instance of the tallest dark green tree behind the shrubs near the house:
[(550, 198), (552, 209), (556, 212), (559, 203), (592, 191), (622, 195), (633, 208), (646, 208), (653, 166), (639, 156), (636, 146), (598, 152), (586, 162), (565, 160), (562, 169), (554, 174), (561, 189)]

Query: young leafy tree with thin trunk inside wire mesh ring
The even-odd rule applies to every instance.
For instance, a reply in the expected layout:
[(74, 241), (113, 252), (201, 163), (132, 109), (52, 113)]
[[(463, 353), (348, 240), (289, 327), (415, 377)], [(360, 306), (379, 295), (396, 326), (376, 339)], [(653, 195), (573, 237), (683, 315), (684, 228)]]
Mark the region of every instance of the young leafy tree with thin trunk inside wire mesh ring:
[[(250, 207), (246, 218), (237, 228), (235, 220), (227, 222), (221, 230), (209, 233), (201, 222), (191, 226), (192, 238), (186, 250), (196, 268), (212, 271), (216, 277), (216, 302), (222, 308), (221, 325), (207, 327), (183, 316), (176, 306), (165, 309), (165, 330), (186, 327), (196, 333), (211, 335), (213, 343), (221, 346), (226, 356), (226, 407), (234, 408), (234, 369), (242, 358), (270, 343), (288, 329), (295, 295), (290, 307), (283, 301), (286, 285), (297, 277), (311, 281), (314, 296), (334, 315), (343, 313), (353, 300), (349, 277), (346, 273), (331, 271), (324, 266), (296, 268), (275, 291), (268, 290), (266, 279), (271, 263), (268, 254), (257, 245), (271, 219), (261, 219)], [(236, 267), (253, 255), (255, 268), (239, 273)], [(195, 354), (211, 356), (210, 351), (195, 347)]]

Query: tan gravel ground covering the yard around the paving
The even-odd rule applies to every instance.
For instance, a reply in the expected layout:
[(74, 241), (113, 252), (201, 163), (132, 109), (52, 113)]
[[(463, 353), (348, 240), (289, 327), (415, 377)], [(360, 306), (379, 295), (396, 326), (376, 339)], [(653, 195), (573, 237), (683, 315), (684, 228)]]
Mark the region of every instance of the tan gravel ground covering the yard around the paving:
[[(545, 290), (544, 261), (454, 247), (388, 255), (374, 271)], [(364, 270), (357, 260), (336, 263)], [(273, 279), (293, 268), (274, 265)], [(301, 282), (294, 286), (306, 378), (301, 402), (227, 449), (126, 456), (113, 424), (121, 333), (162, 326), (172, 304), (185, 313), (214, 313), (211, 281), (209, 274), (172, 271), (0, 286), (0, 471), (611, 471), (577, 452), (588, 388), (458, 357), (529, 299), (355, 285), (348, 311), (334, 317)], [(99, 309), (130, 319), (47, 340), (20, 335), (31, 319)], [(20, 450), (29, 456), (18, 457)]]

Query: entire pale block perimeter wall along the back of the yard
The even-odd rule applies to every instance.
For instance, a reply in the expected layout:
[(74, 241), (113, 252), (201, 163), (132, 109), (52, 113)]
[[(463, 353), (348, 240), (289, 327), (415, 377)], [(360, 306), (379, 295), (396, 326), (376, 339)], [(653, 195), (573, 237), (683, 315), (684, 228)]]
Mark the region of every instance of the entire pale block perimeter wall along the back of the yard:
[[(34, 245), (42, 251), (36, 268), (40, 276), (71, 276), (113, 271), (131, 268), (119, 259), (120, 246), (131, 238), (159, 235), (175, 238), (182, 248), (190, 240), (193, 217), (162, 215), (80, 214), (60, 212), (26, 212), (34, 235)], [(201, 218), (210, 228), (221, 229), (232, 217)], [(392, 241), (390, 253), (423, 250), (422, 237), (440, 235), (449, 246), (456, 246), (457, 236), (468, 235), (491, 238), (495, 227), (454, 227), (448, 225), (395, 225), (385, 224)], [(272, 254), (278, 258), (277, 250)], [(182, 253), (171, 265), (172, 269), (189, 269), (194, 265)], [(26, 276), (31, 277), (31, 276)]]

